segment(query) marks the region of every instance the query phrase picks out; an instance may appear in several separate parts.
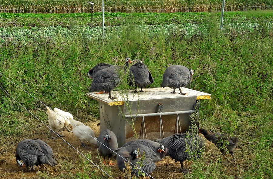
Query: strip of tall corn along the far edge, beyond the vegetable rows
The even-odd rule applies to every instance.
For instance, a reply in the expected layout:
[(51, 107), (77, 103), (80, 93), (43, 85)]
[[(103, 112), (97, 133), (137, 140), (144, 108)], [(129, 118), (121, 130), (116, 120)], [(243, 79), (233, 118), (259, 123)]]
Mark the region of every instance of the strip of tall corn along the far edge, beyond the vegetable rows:
[[(101, 12), (101, 0), (10, 0), (0, 1), (2, 13)], [(222, 0), (105, 0), (105, 12), (210, 12), (220, 11)], [(272, 0), (229, 0), (225, 11), (273, 9)]]

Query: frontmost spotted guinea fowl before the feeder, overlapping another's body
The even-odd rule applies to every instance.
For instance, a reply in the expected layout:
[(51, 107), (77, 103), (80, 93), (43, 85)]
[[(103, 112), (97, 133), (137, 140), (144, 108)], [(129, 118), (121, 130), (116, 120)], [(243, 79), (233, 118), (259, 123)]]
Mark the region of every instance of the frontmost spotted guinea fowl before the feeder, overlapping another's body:
[[(145, 158), (140, 167), (139, 158), (143, 155), (143, 152), (145, 152)], [(161, 160), (152, 149), (142, 144), (130, 144), (126, 147), (121, 147), (117, 153), (116, 162), (120, 171), (124, 172), (126, 168), (125, 162), (127, 163), (126, 160), (130, 160), (132, 174), (137, 174), (139, 171), (138, 168), (141, 169), (141, 172), (149, 174), (156, 168), (155, 162)], [(135, 168), (135, 166), (138, 168)]]

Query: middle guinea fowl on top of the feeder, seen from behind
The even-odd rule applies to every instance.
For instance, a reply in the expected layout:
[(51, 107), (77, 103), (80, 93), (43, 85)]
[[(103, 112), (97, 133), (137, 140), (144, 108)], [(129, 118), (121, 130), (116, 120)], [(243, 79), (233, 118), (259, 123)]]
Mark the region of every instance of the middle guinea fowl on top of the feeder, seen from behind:
[(137, 62), (136, 64), (132, 65), (129, 69), (130, 71), (130, 86), (136, 87), (138, 86), (141, 88), (140, 92), (143, 92), (142, 88), (146, 88), (147, 85), (153, 83), (153, 77), (151, 72), (148, 70), (148, 67), (142, 63), (142, 61)]

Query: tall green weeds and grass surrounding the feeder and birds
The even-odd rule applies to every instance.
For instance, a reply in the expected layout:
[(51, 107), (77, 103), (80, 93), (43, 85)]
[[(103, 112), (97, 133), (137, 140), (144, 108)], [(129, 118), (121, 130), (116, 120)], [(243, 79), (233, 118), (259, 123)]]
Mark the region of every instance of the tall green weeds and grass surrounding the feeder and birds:
[[(99, 116), (99, 106), (85, 96), (91, 83), (86, 73), (97, 63), (123, 64), (126, 56), (144, 59), (154, 77), (150, 87), (160, 86), (169, 64), (185, 65), (195, 72), (190, 88), (212, 94), (211, 100), (201, 101), (201, 127), (229, 133), (238, 137), (241, 144), (235, 151), (238, 161), (234, 165), (222, 161), (219, 150), (207, 142), (204, 157), (191, 162), (190, 174), (182, 177), (270, 178), (273, 175), (272, 29), (261, 23), (253, 32), (224, 34), (218, 30), (215, 15), (206, 20), (207, 32), (190, 37), (176, 33), (149, 37), (147, 32), (126, 31), (125, 28), (120, 37), (104, 42), (100, 39), (86, 41), (79, 36), (59, 37), (54, 41), (5, 42), (0, 46), (0, 72), (48, 106), (67, 110), (81, 121), (90, 122)], [(115, 56), (117, 61), (110, 58)], [(46, 122), (44, 106), (4, 77), (0, 78), (1, 87)], [(6, 146), (1, 148), (2, 154), (12, 154), (18, 141), (29, 137), (29, 133), (35, 137), (37, 134), (33, 131), (46, 131), (3, 91), (0, 91), (0, 101), (0, 142), (1, 146)], [(69, 162), (73, 166), (83, 163), (77, 157), (68, 160), (66, 156), (57, 156), (68, 171)], [(91, 155), (92, 160), (95, 156)], [(98, 169), (80, 166), (73, 167), (72, 172), (78, 173), (78, 178), (102, 177)], [(153, 176), (181, 177), (178, 166), (168, 159), (163, 160), (163, 165), (157, 166), (163, 172), (156, 170)], [(115, 168), (110, 170), (113, 176), (120, 175)], [(50, 173), (35, 176), (72, 178), (69, 172), (58, 171), (53, 176)]]

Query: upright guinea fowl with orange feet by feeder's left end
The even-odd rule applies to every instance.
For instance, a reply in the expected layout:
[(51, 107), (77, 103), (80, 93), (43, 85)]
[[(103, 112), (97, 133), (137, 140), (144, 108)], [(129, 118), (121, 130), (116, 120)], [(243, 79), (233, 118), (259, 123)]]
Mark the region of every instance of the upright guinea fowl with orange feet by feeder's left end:
[(99, 153), (103, 156), (103, 163), (106, 164), (105, 157), (108, 157), (108, 164), (114, 165), (113, 163), (111, 163), (110, 157), (113, 156), (112, 150), (116, 150), (118, 147), (115, 133), (113, 133), (113, 131), (109, 129), (104, 130), (102, 133), (99, 134), (97, 146), (99, 149)]

